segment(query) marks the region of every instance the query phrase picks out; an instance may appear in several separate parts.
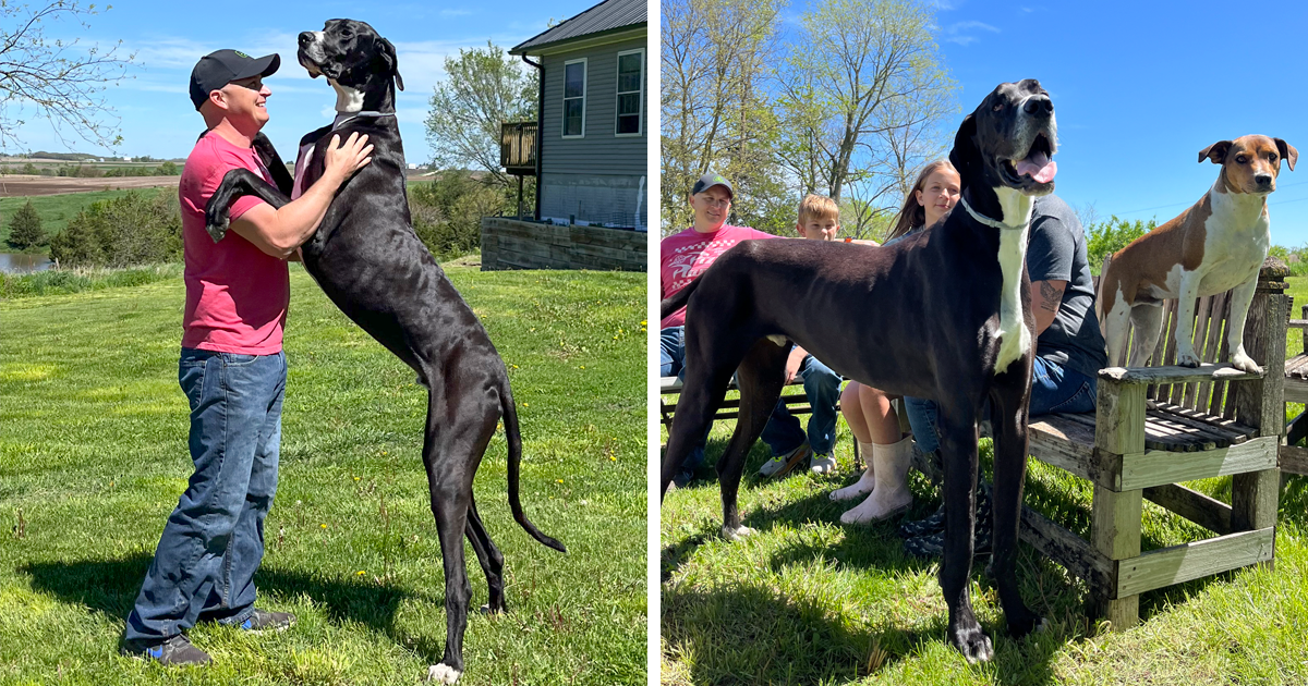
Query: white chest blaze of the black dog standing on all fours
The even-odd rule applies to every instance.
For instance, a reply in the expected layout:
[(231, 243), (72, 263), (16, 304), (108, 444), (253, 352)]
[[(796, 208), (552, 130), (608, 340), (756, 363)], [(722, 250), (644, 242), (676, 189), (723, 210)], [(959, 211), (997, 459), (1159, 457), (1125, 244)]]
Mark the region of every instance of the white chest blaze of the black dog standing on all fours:
[(1002, 374), (1015, 361), (1031, 350), (1031, 332), (1027, 331), (1022, 312), (1022, 269), (1027, 260), (1027, 234), (1031, 233), (1031, 210), (1035, 199), (1012, 188), (995, 188), (999, 208), (1003, 210), (1001, 222), (1008, 226), (1023, 225), (1022, 230), (999, 230), (999, 270), (1003, 273), (1003, 290), (999, 293), (999, 357), (994, 372)]

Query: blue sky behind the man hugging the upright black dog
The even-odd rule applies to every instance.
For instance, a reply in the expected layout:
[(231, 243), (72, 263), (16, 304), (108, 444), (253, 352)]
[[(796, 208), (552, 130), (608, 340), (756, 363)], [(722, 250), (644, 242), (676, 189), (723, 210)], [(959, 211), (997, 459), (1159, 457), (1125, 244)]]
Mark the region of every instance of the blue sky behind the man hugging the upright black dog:
[[(399, 94), (396, 110), (409, 162), (426, 162), (422, 120), (426, 119), (432, 89), (443, 78), (445, 57), (459, 48), (485, 46), (493, 41), (509, 48), (595, 4), (595, 0), (485, 0), (477, 3), (343, 3), (324, 0), (246, 1), (220, 4), (124, 0), (112, 9), (89, 17), (90, 29), (68, 22), (46, 27), (48, 37), (80, 38), (82, 44), (102, 48), (119, 39), (123, 54), (136, 52), (135, 76), (107, 91), (109, 102), (122, 118), (123, 155), (160, 158), (186, 157), (204, 122), (187, 97), (191, 68), (203, 55), (218, 48), (237, 48), (251, 55), (281, 55), (281, 68), (266, 82), (271, 119), (264, 132), (284, 158), (293, 159), (300, 137), (331, 120), (335, 91), (323, 78), (311, 80), (296, 64), (296, 37), (319, 30), (330, 18), (354, 18), (373, 25), (395, 43), (400, 74), (407, 90)], [(221, 8), (201, 12), (200, 8)], [(46, 122), (33, 122), (20, 129), (22, 150), (65, 152)], [(69, 137), (77, 152), (109, 153)]]

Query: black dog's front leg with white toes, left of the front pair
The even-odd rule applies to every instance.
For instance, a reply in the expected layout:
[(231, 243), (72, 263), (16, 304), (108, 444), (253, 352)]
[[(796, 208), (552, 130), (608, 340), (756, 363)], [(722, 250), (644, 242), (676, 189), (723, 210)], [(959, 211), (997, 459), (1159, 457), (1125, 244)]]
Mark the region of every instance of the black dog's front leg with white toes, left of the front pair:
[[(957, 376), (955, 376), (957, 378)], [(994, 657), (990, 638), (981, 631), (972, 612), (968, 580), (972, 575), (972, 551), (976, 531), (977, 485), (977, 405), (980, 393), (938, 393), (940, 405), (938, 431), (944, 457), (944, 557), (940, 559), (940, 591), (950, 609), (947, 630), (950, 643), (963, 652), (968, 662)]]

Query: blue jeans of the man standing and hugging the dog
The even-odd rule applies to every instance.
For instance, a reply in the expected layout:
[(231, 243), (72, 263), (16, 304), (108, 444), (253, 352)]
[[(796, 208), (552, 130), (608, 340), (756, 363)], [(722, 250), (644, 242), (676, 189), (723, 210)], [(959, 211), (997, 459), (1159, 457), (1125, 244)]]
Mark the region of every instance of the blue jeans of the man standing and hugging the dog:
[(167, 517), (127, 640), (157, 640), (200, 619), (239, 625), (254, 612), (263, 520), (277, 490), (286, 357), (182, 349), (195, 474)]

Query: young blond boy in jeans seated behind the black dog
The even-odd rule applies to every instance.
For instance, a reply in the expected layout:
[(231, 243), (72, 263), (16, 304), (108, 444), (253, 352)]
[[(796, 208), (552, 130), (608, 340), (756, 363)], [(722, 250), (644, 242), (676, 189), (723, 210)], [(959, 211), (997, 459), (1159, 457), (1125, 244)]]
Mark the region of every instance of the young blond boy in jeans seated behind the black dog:
[[(829, 197), (812, 193), (804, 196), (799, 203), (795, 231), (799, 238), (810, 240), (835, 240), (840, 233), (840, 208)], [(807, 434), (812, 451), (808, 468), (815, 474), (825, 474), (836, 468), (832, 447), (836, 443), (836, 404), (840, 400), (841, 379), (798, 345), (786, 359), (786, 383), (797, 374), (804, 382), (804, 395), (812, 408)], [(808, 451), (799, 449), (804, 444), (804, 431), (799, 427), (799, 419), (786, 410), (785, 402), (777, 401), (777, 409), (763, 429), (761, 438), (774, 455), (759, 469), (759, 474), (764, 477), (789, 474), (808, 456)]]

